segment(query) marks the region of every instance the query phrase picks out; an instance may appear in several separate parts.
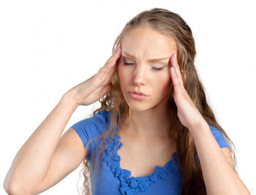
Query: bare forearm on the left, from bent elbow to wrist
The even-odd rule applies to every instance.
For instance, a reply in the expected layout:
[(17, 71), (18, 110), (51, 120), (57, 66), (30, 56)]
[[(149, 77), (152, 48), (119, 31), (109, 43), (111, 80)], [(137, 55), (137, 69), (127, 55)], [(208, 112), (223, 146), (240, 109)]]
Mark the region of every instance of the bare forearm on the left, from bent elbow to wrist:
[(4, 180), (5, 187), (29, 188), (45, 178), (58, 141), (77, 107), (69, 95), (62, 96), (16, 154)]

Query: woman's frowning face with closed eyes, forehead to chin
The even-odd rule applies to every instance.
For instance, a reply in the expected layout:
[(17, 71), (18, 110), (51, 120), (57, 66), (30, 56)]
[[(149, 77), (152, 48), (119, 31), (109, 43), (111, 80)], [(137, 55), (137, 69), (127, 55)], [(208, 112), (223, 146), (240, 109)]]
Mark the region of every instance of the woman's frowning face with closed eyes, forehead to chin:
[(175, 46), (166, 36), (150, 28), (130, 30), (121, 44), (118, 73), (121, 90), (130, 109), (155, 111), (161, 108), (171, 90), (170, 57), (176, 52)]

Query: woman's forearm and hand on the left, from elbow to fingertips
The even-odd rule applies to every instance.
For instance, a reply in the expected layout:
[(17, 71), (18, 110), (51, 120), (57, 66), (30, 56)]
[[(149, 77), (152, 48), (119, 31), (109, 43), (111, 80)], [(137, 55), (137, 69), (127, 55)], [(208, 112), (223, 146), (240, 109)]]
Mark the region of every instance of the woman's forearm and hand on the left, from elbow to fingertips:
[[(44, 181), (61, 134), (73, 112), (79, 105), (90, 105), (112, 90), (112, 83), (109, 80), (117, 68), (120, 55), (121, 44), (97, 74), (62, 96), (61, 101), (16, 154), (4, 179), (5, 191), (9, 194), (31, 194), (37, 185)], [(60, 146), (61, 153), (63, 147), (67, 146)], [(55, 156), (59, 157), (59, 153)]]

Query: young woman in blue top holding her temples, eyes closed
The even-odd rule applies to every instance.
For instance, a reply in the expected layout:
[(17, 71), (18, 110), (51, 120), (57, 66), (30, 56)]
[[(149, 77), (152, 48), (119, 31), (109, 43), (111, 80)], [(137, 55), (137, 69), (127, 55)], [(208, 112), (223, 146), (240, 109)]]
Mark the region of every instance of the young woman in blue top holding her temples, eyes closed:
[[(83, 162), (83, 194), (250, 194), (207, 103), (195, 53), (180, 15), (158, 8), (136, 15), (106, 64), (67, 91), (18, 151), (5, 190), (41, 193)], [(93, 116), (61, 136), (76, 108), (97, 100)]]

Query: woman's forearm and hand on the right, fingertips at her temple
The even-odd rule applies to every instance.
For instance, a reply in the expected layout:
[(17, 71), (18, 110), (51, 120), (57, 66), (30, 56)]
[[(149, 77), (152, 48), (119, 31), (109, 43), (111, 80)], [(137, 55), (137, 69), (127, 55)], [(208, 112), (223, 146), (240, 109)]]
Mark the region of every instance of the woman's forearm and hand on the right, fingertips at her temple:
[(231, 155), (229, 154), (226, 158), (211, 133), (208, 123), (186, 92), (175, 53), (171, 56), (170, 61), (177, 115), (182, 125), (191, 131), (194, 138), (207, 194), (249, 195), (247, 187), (230, 166), (228, 160)]

